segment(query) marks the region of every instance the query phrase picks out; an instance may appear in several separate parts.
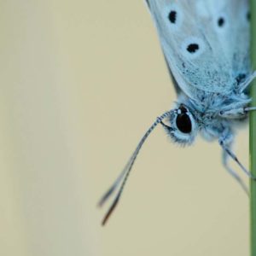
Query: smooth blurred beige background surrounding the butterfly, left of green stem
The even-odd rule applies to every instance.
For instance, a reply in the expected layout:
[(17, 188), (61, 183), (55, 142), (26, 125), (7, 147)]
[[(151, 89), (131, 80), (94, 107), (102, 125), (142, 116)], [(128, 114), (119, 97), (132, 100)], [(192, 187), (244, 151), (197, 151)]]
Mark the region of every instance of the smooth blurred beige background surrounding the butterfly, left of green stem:
[[(248, 254), (218, 143), (181, 148), (160, 127), (100, 226), (96, 201), (176, 99), (143, 0), (2, 0), (0, 20), (1, 255)], [(245, 165), (247, 148), (244, 129)]]

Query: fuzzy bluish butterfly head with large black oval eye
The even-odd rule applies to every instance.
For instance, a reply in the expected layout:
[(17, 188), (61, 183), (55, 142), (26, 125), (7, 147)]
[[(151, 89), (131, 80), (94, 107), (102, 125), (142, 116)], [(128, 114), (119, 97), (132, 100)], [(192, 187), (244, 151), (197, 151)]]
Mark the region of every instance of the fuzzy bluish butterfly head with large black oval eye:
[(198, 131), (195, 117), (184, 104), (173, 109), (172, 113), (161, 122), (161, 125), (174, 142), (182, 145), (193, 143)]

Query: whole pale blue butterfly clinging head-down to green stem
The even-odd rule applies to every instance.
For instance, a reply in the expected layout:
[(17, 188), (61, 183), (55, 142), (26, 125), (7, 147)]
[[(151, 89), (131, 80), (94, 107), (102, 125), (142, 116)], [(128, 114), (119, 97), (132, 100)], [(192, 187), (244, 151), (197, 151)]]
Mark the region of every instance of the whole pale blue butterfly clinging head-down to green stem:
[(102, 220), (106, 224), (122, 195), (137, 154), (148, 135), (162, 125), (175, 143), (189, 145), (201, 134), (218, 140), (225, 169), (247, 193), (241, 177), (230, 168), (234, 160), (253, 178), (232, 152), (234, 127), (247, 120), (249, 84), (256, 76), (250, 63), (250, 13), (247, 0), (146, 0), (177, 92), (174, 108), (154, 121), (131, 154), (125, 168), (99, 205), (118, 188)]

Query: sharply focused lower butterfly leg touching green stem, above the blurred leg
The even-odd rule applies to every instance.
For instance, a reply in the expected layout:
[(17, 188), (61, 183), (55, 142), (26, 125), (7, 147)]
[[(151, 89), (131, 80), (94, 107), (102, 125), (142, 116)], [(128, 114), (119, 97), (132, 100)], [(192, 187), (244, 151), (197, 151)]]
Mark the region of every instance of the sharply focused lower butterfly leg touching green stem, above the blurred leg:
[(253, 180), (256, 180), (256, 177), (253, 177), (252, 173), (249, 172), (247, 170), (247, 168), (241, 164), (240, 160), (238, 160), (238, 158), (236, 157), (236, 154), (234, 154), (231, 151), (231, 149), (229, 147), (230, 137), (232, 137), (232, 135), (230, 135), (230, 134), (228, 134), (225, 137), (220, 137), (218, 140), (219, 145), (224, 149), (224, 152), (231, 157), (232, 160), (236, 161), (236, 164), (241, 167), (241, 170), (246, 173), (247, 177), (249, 177)]

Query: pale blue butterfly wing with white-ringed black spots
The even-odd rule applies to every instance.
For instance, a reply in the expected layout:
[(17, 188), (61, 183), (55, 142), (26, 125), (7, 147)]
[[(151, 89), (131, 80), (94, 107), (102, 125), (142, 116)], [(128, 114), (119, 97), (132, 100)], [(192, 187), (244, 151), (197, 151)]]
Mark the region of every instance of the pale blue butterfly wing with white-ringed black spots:
[(180, 89), (229, 94), (249, 68), (246, 0), (147, 0)]

